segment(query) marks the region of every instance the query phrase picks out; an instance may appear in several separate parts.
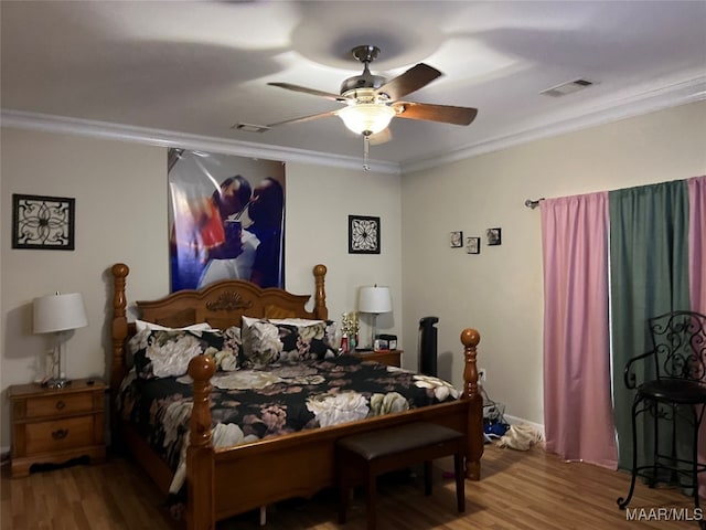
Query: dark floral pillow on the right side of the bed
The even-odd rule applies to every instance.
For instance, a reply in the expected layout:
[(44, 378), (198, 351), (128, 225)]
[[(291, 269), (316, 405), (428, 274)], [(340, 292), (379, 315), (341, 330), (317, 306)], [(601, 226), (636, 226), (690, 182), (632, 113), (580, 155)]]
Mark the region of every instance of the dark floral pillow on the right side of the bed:
[(245, 368), (261, 368), (279, 360), (333, 358), (336, 354), (336, 324), (333, 320), (243, 317), (242, 333), (239, 359)]

